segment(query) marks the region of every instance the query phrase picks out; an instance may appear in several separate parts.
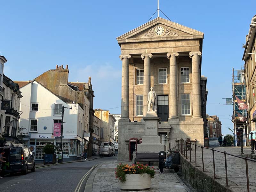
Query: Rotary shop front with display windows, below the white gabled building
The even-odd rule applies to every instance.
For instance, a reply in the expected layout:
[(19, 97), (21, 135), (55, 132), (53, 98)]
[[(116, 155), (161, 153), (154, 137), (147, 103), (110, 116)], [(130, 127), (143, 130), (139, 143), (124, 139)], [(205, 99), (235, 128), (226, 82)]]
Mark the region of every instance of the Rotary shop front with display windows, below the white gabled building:
[[(60, 148), (60, 138), (54, 138), (51, 133), (31, 133), (28, 146), (32, 152), (36, 153), (36, 162), (43, 162), (43, 149), (47, 144), (52, 144), (57, 148)], [(63, 135), (62, 148), (64, 162), (81, 159), (81, 153), (83, 149), (82, 138), (78, 137), (77, 135)]]

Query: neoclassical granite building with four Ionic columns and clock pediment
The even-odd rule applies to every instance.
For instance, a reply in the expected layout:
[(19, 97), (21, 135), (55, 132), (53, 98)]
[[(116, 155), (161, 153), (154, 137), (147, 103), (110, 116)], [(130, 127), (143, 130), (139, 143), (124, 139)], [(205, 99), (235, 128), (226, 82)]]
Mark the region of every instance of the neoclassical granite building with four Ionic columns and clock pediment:
[(202, 32), (159, 17), (117, 37), (122, 60), (119, 160), (131, 159), (136, 144), (130, 139), (145, 134), (150, 87), (158, 95), (158, 132), (170, 138), (166, 148), (179, 138), (203, 144), (201, 111), (205, 112), (207, 99), (206, 83), (200, 87), (203, 38)]

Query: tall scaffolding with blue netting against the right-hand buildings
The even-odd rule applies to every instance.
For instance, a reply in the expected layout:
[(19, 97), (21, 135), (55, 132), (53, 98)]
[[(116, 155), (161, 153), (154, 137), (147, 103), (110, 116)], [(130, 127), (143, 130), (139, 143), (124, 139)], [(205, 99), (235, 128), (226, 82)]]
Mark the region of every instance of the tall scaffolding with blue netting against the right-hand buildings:
[[(236, 97), (246, 102), (246, 92), (245, 92), (245, 78), (244, 78), (244, 70), (234, 70), (232, 73), (232, 91), (233, 91), (233, 115), (232, 121), (234, 124), (234, 145), (240, 145), (240, 136), (247, 134), (247, 120), (240, 121), (238, 114), (247, 117), (247, 109), (239, 109)], [(236, 97), (235, 97), (236, 96)], [(243, 136), (243, 142), (246, 145), (246, 136)]]

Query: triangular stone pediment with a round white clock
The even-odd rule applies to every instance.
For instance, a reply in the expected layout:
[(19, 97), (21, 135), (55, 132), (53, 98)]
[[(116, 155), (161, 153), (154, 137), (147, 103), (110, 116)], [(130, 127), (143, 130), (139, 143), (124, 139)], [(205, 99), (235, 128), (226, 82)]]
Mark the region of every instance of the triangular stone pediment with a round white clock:
[[(163, 32), (161, 35), (156, 34), (156, 27), (161, 26)], [(149, 41), (149, 40), (168, 40), (168, 39), (198, 39), (204, 38), (204, 33), (192, 28), (185, 27), (178, 23), (156, 18), (138, 28), (135, 28), (122, 36), (117, 37), (118, 43), (133, 41)]]

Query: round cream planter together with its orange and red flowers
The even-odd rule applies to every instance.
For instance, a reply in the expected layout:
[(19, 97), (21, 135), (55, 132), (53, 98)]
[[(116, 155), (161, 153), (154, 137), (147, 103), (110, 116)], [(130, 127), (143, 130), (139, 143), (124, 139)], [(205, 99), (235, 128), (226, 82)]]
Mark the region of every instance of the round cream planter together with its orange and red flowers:
[(118, 164), (116, 167), (116, 179), (121, 181), (123, 190), (141, 190), (151, 187), (151, 178), (154, 178), (156, 172), (154, 167), (137, 164)]

